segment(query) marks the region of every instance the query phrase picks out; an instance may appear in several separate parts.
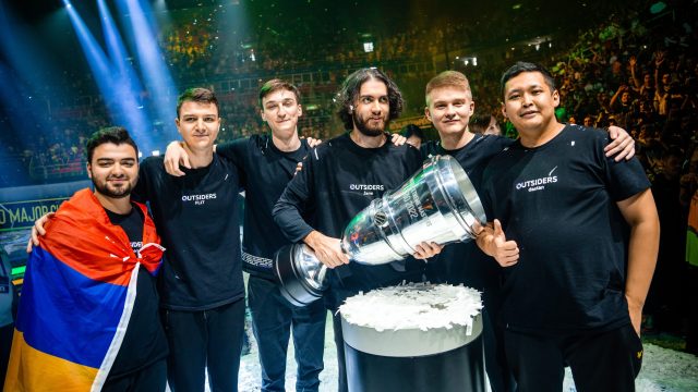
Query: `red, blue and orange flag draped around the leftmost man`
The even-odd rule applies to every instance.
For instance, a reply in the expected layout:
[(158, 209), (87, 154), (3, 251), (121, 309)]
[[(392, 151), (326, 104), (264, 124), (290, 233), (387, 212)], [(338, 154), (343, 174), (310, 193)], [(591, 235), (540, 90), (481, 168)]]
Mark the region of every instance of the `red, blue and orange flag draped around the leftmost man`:
[(164, 248), (144, 211), (134, 254), (89, 189), (63, 203), (27, 261), (4, 391), (99, 391), (127, 331), (139, 269)]

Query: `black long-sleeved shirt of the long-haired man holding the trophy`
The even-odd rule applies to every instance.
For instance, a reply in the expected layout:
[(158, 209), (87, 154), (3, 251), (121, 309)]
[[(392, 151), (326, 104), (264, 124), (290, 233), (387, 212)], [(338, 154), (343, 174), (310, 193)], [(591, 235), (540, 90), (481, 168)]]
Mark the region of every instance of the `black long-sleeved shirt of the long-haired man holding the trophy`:
[[(274, 208), (274, 219), (292, 242), (300, 242), (315, 228), (340, 238), (349, 221), (371, 200), (399, 187), (421, 167), (421, 154), (410, 145), (362, 148), (349, 134), (335, 137), (311, 150), (303, 170), (291, 180)], [(312, 210), (311, 210), (312, 209)], [(301, 213), (309, 212), (304, 221)], [(359, 291), (421, 280), (423, 262), (411, 257), (406, 270), (392, 265), (364, 266), (350, 262), (329, 271), (325, 305), (336, 309)]]

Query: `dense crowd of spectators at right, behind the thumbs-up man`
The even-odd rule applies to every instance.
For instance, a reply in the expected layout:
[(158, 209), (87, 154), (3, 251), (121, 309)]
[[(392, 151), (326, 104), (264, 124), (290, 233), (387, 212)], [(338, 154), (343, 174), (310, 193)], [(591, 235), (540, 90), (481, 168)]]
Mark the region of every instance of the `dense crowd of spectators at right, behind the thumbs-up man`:
[(687, 278), (685, 238), (698, 189), (697, 44), (695, 12), (650, 23), (630, 12), (580, 35), (571, 50), (549, 64), (561, 93), (558, 117), (628, 130), (652, 181), (662, 231), (646, 332), (685, 333), (690, 313), (684, 299), (695, 282)]

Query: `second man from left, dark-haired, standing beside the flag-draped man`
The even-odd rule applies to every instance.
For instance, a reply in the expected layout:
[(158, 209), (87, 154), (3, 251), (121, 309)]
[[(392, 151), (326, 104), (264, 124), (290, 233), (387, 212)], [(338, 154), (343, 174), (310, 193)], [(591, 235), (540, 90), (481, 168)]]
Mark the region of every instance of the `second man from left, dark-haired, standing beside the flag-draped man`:
[(163, 157), (141, 164), (136, 193), (147, 200), (167, 247), (161, 306), (173, 392), (237, 391), (244, 284), (240, 255), (238, 169), (214, 154), (220, 127), (213, 91), (191, 88), (178, 100), (177, 128), (191, 169), (167, 174)]

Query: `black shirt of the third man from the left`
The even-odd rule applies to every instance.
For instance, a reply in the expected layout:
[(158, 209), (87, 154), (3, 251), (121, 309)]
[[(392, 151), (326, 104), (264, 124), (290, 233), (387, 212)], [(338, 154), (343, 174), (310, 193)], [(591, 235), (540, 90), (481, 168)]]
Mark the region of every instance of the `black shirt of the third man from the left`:
[(270, 135), (253, 135), (217, 146), (218, 155), (240, 168), (245, 191), (242, 268), (246, 272), (274, 279), (272, 258), (289, 241), (274, 222), (272, 209), (309, 150), (308, 143), (301, 140), (296, 151), (281, 151)]

